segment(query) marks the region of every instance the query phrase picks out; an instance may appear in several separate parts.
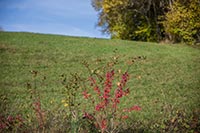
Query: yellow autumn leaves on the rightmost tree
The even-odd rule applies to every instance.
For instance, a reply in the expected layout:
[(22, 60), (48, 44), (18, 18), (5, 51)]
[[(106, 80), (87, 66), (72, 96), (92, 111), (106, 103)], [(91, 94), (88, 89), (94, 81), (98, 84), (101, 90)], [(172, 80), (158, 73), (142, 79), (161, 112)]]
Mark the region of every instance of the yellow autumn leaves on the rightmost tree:
[(197, 14), (200, 14), (200, 12), (191, 8), (194, 3), (195, 0), (186, 4), (174, 2), (171, 11), (166, 13), (166, 21), (163, 23), (165, 31), (169, 35), (173, 35), (174, 38), (181, 38), (182, 41), (188, 43), (194, 41), (193, 36), (196, 34), (196, 29), (198, 29), (196, 26), (199, 23)]

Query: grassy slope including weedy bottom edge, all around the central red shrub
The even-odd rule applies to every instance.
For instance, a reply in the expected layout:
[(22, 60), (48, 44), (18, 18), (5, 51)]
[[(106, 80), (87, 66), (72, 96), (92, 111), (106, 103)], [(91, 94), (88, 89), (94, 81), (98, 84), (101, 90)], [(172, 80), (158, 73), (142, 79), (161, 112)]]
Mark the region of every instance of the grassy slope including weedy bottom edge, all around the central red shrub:
[(139, 107), (117, 131), (200, 131), (198, 48), (9, 32), (0, 32), (0, 131), (98, 132), (84, 119), (94, 107), (79, 83), (113, 59), (113, 86), (129, 68), (130, 93), (119, 108)]

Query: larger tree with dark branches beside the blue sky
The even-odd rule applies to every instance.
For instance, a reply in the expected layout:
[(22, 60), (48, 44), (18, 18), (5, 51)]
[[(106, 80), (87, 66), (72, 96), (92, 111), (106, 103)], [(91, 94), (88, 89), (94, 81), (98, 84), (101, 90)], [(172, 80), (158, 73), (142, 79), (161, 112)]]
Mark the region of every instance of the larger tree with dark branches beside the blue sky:
[(172, 0), (92, 0), (104, 33), (112, 38), (143, 41), (163, 37), (158, 20), (170, 3)]

